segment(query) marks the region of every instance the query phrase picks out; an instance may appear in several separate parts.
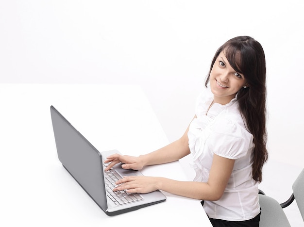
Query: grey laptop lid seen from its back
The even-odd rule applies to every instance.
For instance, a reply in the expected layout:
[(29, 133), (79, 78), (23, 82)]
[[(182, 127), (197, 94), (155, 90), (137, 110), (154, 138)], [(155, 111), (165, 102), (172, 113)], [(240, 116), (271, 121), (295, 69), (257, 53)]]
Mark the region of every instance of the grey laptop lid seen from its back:
[(58, 158), (84, 191), (103, 210), (107, 210), (100, 152), (51, 106)]

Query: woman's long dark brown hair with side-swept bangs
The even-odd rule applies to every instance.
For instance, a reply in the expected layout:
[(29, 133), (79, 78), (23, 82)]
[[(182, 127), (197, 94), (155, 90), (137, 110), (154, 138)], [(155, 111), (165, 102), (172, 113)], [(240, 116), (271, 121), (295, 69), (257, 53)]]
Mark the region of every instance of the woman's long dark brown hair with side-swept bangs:
[(237, 93), (239, 110), (245, 120), (247, 130), (253, 134), (253, 179), (262, 181), (262, 168), (268, 159), (266, 148), (266, 61), (259, 42), (250, 36), (237, 36), (228, 40), (216, 52), (205, 86), (210, 79), (211, 69), (221, 51), (236, 70), (244, 75), (248, 86)]

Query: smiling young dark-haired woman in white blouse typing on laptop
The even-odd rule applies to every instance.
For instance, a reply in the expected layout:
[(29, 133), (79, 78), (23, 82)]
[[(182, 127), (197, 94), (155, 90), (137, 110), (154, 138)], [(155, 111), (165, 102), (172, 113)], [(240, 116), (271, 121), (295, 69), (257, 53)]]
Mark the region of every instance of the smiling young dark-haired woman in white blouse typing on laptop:
[(216, 52), (198, 97), (196, 114), (177, 141), (139, 157), (107, 157), (108, 169), (173, 162), (192, 153), (194, 181), (125, 177), (115, 190), (163, 190), (202, 200), (213, 226), (259, 226), (258, 183), (267, 161), (266, 64), (261, 45), (249, 36), (228, 40)]

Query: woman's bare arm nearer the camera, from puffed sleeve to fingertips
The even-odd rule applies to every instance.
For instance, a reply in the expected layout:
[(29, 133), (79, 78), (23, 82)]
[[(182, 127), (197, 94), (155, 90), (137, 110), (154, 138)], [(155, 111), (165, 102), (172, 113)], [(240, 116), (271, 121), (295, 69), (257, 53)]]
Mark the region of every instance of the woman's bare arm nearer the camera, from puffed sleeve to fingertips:
[(127, 190), (133, 193), (149, 193), (163, 190), (175, 195), (195, 199), (215, 201), (223, 195), (235, 160), (223, 158), (214, 154), (207, 182), (178, 181), (159, 177), (125, 177), (117, 182), (116, 190)]

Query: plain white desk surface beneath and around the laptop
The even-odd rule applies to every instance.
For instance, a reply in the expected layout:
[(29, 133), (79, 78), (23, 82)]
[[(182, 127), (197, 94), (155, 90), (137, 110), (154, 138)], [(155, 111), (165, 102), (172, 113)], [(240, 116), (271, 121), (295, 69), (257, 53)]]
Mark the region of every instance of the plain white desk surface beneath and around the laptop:
[[(168, 144), (138, 86), (0, 84), (0, 100), (0, 226), (211, 227), (198, 200), (168, 193), (166, 202), (109, 217), (59, 162), (51, 105), (99, 150), (139, 155)], [(179, 162), (143, 173), (186, 179)]]

